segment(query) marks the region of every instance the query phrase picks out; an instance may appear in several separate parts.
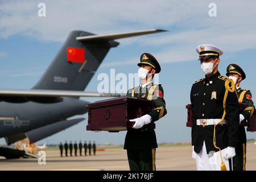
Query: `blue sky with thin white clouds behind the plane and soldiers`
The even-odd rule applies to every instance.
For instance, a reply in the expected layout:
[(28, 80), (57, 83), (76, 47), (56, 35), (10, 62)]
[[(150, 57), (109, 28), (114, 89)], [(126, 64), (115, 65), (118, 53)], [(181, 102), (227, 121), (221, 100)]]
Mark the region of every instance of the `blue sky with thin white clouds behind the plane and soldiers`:
[[(38, 17), (38, 3), (46, 3), (46, 17)], [(185, 127), (189, 93), (193, 82), (204, 77), (196, 46), (214, 44), (224, 51), (219, 70), (225, 75), (230, 63), (246, 73), (242, 88), (256, 94), (255, 1), (214, 1), (217, 17), (208, 15), (212, 1), (1, 1), (0, 88), (30, 89), (42, 76), (72, 30), (109, 34), (162, 28), (160, 34), (117, 40), (86, 91), (96, 91), (100, 73), (136, 73), (139, 56), (150, 52), (162, 66), (159, 82), (164, 88), (168, 114), (156, 122), (158, 142), (190, 141)], [(102, 98), (83, 98), (87, 101)], [(80, 116), (79, 116), (80, 117)], [(87, 114), (84, 115), (87, 118)], [(125, 132), (93, 133), (86, 121), (39, 143), (64, 140), (96, 140), (122, 144)], [(247, 138), (256, 138), (247, 133)], [(3, 143), (4, 140), (0, 139)]]

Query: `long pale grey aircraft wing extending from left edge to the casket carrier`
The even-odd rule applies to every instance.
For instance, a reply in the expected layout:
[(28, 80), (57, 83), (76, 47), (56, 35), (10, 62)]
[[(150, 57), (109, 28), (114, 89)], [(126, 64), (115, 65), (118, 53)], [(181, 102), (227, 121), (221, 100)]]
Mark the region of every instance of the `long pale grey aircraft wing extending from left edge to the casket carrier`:
[(20, 90), (20, 89), (1, 89), (1, 96), (16, 97), (122, 97), (126, 94), (119, 93), (98, 93), (98, 92), (82, 92), (69, 90)]

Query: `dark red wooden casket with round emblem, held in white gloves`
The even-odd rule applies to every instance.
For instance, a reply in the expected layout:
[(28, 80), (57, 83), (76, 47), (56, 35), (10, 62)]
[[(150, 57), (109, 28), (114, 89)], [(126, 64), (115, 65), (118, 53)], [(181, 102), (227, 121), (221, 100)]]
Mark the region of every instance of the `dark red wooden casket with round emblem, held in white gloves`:
[[(153, 101), (137, 97), (118, 97), (93, 102), (88, 104), (86, 130), (109, 132), (127, 130), (134, 124), (129, 119), (141, 117), (151, 111), (153, 107)], [(155, 124), (150, 123), (147, 127), (155, 128)]]

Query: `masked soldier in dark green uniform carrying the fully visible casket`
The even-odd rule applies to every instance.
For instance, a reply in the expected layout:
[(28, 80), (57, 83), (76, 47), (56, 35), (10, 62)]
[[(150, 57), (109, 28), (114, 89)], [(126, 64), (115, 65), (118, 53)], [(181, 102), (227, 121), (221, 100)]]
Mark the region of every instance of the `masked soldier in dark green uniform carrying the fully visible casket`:
[(154, 171), (155, 149), (158, 144), (152, 125), (167, 113), (163, 87), (160, 84), (152, 83), (154, 74), (159, 73), (161, 68), (158, 61), (150, 53), (141, 55), (141, 63), (138, 63), (138, 66), (140, 67), (138, 76), (141, 78), (141, 85), (129, 89), (127, 96), (152, 100), (155, 103), (155, 108), (142, 117), (130, 119), (131, 122), (135, 123), (133, 128), (127, 130), (124, 149), (127, 150), (131, 171)]

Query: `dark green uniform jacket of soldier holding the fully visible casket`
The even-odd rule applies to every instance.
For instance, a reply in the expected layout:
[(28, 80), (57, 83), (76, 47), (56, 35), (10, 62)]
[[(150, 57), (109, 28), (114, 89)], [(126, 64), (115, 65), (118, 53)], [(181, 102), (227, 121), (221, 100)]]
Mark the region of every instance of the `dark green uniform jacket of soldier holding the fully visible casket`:
[[(158, 121), (167, 114), (166, 102), (163, 98), (163, 88), (159, 85), (154, 85), (152, 82), (146, 85), (144, 88), (142, 86), (137, 86), (135, 88), (129, 89), (127, 92), (128, 97), (139, 97), (147, 98), (148, 100), (154, 101), (155, 108), (151, 110), (148, 115), (152, 118), (152, 123)], [(134, 118), (130, 118), (134, 119)], [(148, 125), (150, 125), (149, 123)], [(126, 150), (143, 150), (150, 148), (157, 148), (158, 144), (156, 142), (156, 135), (154, 129), (128, 129), (125, 137)]]

